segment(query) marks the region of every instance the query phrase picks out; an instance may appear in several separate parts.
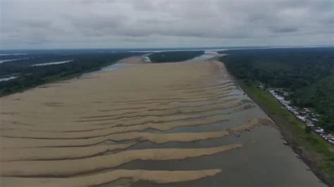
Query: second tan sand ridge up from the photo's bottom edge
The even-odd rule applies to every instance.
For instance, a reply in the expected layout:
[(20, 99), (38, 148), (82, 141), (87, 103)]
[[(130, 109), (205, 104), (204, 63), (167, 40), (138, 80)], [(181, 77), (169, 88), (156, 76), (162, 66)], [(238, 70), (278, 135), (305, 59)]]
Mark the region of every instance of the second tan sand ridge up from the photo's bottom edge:
[(2, 162), (1, 176), (75, 176), (111, 169), (134, 160), (183, 160), (242, 147), (243, 145), (238, 143), (214, 148), (125, 150), (111, 155), (76, 160)]

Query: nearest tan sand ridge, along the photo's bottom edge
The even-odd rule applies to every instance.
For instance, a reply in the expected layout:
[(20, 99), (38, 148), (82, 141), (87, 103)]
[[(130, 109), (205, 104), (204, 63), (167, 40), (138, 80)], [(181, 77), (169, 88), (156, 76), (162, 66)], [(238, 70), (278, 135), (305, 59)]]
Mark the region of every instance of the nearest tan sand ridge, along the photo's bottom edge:
[(221, 169), (206, 169), (197, 171), (154, 171), (154, 170), (126, 170), (118, 169), (112, 172), (94, 174), (89, 176), (78, 176), (73, 178), (19, 178), (2, 177), (1, 183), (4, 186), (97, 186), (118, 179), (130, 178), (132, 183), (136, 181), (151, 181), (154, 183), (178, 183), (194, 181), (208, 176), (214, 176), (222, 172)]

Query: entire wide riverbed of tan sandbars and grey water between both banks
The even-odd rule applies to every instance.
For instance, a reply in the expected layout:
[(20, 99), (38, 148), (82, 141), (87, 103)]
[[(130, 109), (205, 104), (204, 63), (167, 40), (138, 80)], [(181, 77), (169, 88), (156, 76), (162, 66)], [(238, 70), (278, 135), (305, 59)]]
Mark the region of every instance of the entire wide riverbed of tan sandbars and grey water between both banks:
[(0, 98), (1, 186), (325, 186), (223, 63), (118, 67)]

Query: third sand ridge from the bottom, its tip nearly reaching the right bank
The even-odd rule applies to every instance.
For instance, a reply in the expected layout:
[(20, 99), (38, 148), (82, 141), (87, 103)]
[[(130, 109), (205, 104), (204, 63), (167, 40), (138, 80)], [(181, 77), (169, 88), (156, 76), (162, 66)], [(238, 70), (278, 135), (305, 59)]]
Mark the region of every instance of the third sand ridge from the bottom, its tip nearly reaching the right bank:
[[(152, 143), (167, 143), (170, 141), (178, 142), (189, 142), (206, 140), (209, 138), (220, 138), (233, 134), (235, 131), (244, 131), (245, 129), (251, 129), (258, 124), (271, 123), (266, 119), (253, 119), (247, 124), (240, 125), (238, 127), (230, 128), (226, 131), (213, 131), (213, 132), (202, 132), (202, 133), (172, 133), (172, 134), (155, 134), (155, 133), (144, 133), (137, 131), (130, 131), (123, 134), (116, 134), (109, 136), (108, 139), (112, 141), (125, 141), (125, 140), (136, 140), (150, 141)], [(73, 159), (80, 157), (92, 157), (106, 153), (111, 150), (125, 149), (135, 145), (134, 143), (120, 143), (111, 146), (89, 146), (92, 143), (96, 143), (96, 139), (85, 139), (81, 143), (86, 142), (85, 147), (57, 147), (57, 148), (11, 148), (6, 151), (1, 151), (3, 154), (0, 155), (0, 161), (16, 161), (16, 160), (61, 160), (61, 159)], [(98, 140), (99, 141), (99, 140)], [(105, 140), (100, 140), (105, 141)], [(82, 146), (82, 145), (81, 145)], [(72, 154), (69, 154), (71, 153)]]

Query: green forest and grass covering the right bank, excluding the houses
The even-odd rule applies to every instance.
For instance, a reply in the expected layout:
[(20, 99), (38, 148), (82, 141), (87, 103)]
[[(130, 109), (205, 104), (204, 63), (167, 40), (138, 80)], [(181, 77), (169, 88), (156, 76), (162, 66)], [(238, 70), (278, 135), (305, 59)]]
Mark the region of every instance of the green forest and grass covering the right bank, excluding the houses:
[(258, 82), (282, 88), (299, 107), (321, 114), (327, 131), (334, 127), (334, 49), (252, 49), (222, 51), (220, 60), (249, 97), (273, 119), (287, 143), (311, 170), (326, 183), (334, 184), (334, 146), (305, 129), (305, 124), (283, 108), (276, 98), (257, 87)]

